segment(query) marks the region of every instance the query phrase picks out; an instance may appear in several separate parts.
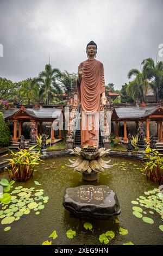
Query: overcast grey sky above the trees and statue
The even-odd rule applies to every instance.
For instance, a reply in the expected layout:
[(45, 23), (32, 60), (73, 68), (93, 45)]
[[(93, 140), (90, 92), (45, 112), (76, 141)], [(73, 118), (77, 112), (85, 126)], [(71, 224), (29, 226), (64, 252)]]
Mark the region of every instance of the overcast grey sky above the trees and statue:
[(156, 58), (162, 20), (163, 0), (0, 0), (0, 77), (36, 77), (49, 54), (53, 68), (77, 72), (93, 40), (105, 84), (120, 89), (131, 68)]

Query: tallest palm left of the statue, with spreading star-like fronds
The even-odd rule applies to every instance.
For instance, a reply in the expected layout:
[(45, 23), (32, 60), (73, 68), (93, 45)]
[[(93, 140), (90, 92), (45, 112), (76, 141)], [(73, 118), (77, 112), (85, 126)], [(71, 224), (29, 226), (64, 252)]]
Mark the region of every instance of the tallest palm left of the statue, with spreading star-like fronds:
[(58, 78), (61, 76), (59, 69), (53, 69), (51, 64), (45, 66), (45, 70), (41, 71), (36, 81), (40, 84), (39, 95), (41, 98), (46, 97), (46, 104), (50, 104), (56, 93), (62, 93), (58, 84)]

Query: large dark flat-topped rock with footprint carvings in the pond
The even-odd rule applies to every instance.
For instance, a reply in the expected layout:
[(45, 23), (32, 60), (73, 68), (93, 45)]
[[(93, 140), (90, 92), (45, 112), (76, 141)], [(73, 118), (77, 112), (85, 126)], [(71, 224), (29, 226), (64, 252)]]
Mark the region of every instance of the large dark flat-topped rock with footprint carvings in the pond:
[(105, 185), (67, 188), (63, 205), (77, 217), (98, 220), (108, 220), (121, 213), (116, 193)]

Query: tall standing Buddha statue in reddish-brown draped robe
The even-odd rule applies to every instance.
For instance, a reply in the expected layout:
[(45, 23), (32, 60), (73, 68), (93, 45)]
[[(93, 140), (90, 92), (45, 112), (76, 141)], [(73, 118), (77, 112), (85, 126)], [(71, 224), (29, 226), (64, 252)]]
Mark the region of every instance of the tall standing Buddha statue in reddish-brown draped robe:
[(78, 68), (78, 98), (82, 104), (82, 147), (98, 147), (100, 103), (106, 104), (103, 64), (96, 60), (97, 45), (86, 46), (87, 60)]

